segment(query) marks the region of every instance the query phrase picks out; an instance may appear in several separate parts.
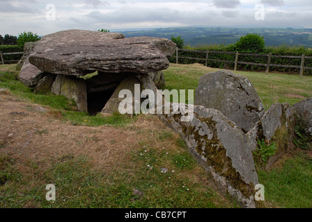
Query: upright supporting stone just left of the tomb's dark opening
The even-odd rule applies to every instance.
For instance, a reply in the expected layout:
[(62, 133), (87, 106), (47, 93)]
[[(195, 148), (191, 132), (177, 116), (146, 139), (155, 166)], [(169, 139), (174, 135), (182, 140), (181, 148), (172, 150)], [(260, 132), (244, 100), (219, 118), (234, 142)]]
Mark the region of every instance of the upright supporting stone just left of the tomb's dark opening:
[(88, 112), (86, 81), (75, 76), (56, 76), (52, 84), (52, 92), (73, 99), (81, 112)]

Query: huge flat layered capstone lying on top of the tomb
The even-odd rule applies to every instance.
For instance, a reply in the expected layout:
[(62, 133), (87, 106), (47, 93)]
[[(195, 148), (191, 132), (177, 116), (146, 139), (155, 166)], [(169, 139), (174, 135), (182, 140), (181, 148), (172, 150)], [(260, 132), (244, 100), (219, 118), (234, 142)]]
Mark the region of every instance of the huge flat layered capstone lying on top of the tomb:
[(42, 37), (29, 61), (41, 71), (68, 76), (94, 71), (148, 74), (169, 67), (166, 56), (173, 54), (175, 47), (165, 38), (68, 30)]

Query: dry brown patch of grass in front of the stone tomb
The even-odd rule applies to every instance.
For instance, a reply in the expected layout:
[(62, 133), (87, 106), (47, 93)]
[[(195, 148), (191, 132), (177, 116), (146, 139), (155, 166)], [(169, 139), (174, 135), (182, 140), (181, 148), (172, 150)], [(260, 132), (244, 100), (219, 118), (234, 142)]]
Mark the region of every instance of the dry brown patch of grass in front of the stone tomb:
[(98, 167), (112, 167), (137, 144), (137, 133), (114, 126), (88, 127), (61, 123), (49, 108), (0, 99), (2, 151), (21, 162), (54, 159), (63, 155), (85, 155)]

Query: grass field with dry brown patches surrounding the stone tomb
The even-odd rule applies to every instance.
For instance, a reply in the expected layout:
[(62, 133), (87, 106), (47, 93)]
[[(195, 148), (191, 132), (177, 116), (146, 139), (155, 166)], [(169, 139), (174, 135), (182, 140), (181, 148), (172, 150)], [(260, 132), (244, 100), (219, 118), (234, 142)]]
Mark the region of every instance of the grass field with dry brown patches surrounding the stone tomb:
[[(215, 70), (171, 64), (166, 88), (196, 89)], [(10, 89), (0, 94), (0, 207), (238, 207), (212, 188), (182, 139), (156, 117), (89, 116), (63, 96), (34, 94), (17, 74), (14, 65), (0, 65), (0, 88)], [(312, 96), (311, 77), (235, 74), (251, 80), (266, 109)], [(13, 121), (13, 108), (29, 115)], [(312, 207), (311, 151), (297, 149), (258, 177), (265, 207)], [(45, 200), (51, 183), (54, 202)]]

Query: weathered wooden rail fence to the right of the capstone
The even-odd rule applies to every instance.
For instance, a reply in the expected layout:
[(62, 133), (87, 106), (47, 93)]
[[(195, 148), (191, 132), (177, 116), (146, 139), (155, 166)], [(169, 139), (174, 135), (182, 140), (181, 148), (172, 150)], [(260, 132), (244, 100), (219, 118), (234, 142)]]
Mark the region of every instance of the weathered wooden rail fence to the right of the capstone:
[[(186, 56), (179, 56), (179, 51), (190, 51), (195, 53), (205, 53), (205, 58), (195, 58), (195, 57), (186, 57)], [(209, 58), (209, 53), (221, 53), (221, 54), (235, 54), (235, 61), (232, 60), (216, 60)], [(267, 56), (267, 63), (256, 63), (256, 62), (243, 62), (238, 60), (238, 56)], [(301, 58), (301, 65), (280, 65), (280, 64), (272, 64), (271, 58), (279, 57), (279, 58)], [(270, 70), (270, 67), (290, 67), (290, 68), (299, 68), (299, 76), (302, 76), (304, 73), (304, 69), (312, 69), (312, 67), (305, 67), (304, 61), (306, 59), (311, 59), (312, 56), (305, 56), (302, 54), (302, 56), (276, 56), (272, 55), (272, 53), (269, 54), (258, 54), (258, 53), (238, 53), (238, 52), (232, 52), (232, 51), (201, 51), (201, 50), (192, 50), (192, 49), (178, 49), (176, 48), (176, 63), (178, 64), (179, 58), (189, 59), (189, 60), (202, 60), (205, 61), (205, 66), (208, 65), (208, 61), (212, 62), (225, 62), (225, 63), (234, 63), (234, 71), (237, 69), (237, 64), (245, 64), (245, 65), (258, 65), (266, 67), (265, 72), (268, 73)]]

